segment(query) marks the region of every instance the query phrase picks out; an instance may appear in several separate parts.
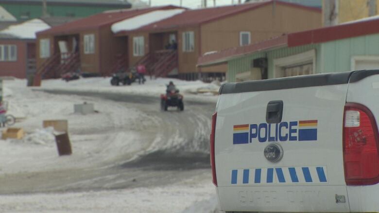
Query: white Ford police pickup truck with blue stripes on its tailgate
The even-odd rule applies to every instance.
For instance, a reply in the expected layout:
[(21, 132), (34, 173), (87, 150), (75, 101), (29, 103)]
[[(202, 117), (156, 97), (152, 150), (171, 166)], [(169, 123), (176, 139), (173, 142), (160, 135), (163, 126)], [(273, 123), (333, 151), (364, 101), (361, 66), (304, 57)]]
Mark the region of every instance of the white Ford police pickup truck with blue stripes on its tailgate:
[(379, 212), (379, 70), (220, 88), (213, 183), (226, 212)]

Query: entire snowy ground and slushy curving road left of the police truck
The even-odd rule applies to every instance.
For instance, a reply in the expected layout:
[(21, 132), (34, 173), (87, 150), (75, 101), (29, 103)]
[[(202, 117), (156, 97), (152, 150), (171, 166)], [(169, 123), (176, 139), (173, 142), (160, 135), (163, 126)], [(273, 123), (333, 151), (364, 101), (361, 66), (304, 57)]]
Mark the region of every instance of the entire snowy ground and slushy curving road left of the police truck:
[[(169, 81), (184, 93), (184, 112), (159, 109)], [(54, 90), (47, 93), (5, 81), (8, 113), (26, 135), (0, 140), (0, 212), (218, 212), (208, 155), (217, 97), (194, 95), (198, 88), (217, 90), (173, 79), (112, 87), (89, 78), (47, 80), (40, 87)], [(97, 113), (73, 113), (84, 101)], [(72, 155), (57, 155), (52, 128), (42, 128), (51, 119), (69, 121)]]

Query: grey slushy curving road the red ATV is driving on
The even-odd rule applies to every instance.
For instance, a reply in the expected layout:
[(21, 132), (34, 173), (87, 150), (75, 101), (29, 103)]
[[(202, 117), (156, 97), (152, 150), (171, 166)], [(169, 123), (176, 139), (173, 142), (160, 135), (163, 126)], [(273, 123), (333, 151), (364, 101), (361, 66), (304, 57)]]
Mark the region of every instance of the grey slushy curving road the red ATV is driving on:
[[(127, 108), (143, 112), (140, 124), (136, 122), (133, 127), (125, 130), (137, 132), (138, 141), (135, 143), (141, 143), (143, 148), (138, 152), (116, 156), (112, 162), (103, 163), (100, 167), (8, 174), (0, 178), (5, 186), (0, 188), (1, 194), (164, 186), (209, 172), (208, 137), (214, 103), (185, 102), (184, 112), (176, 109), (161, 112), (159, 98), (75, 93), (103, 101), (118, 101)], [(54, 91), (54, 94), (73, 95), (73, 92)], [(75, 130), (70, 132), (82, 133)]]

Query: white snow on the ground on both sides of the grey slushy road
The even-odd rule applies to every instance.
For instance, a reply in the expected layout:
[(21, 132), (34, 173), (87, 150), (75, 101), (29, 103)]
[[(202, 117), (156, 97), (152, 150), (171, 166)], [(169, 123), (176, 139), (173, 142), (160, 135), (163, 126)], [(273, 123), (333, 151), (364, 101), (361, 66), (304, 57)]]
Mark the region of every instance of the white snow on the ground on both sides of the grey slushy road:
[[(198, 89), (217, 90), (218, 86), (203, 82), (170, 79), (148, 80), (145, 85), (111, 86), (109, 78), (88, 78), (72, 82), (48, 80), (38, 89), (91, 91), (98, 93), (140, 94), (157, 97), (165, 84), (173, 81), (185, 98), (215, 102), (217, 96), (193, 95)], [(142, 128), (152, 120), (139, 109), (125, 107), (116, 101), (70, 95), (53, 95), (33, 91), (24, 80), (6, 80), (4, 99), (9, 114), (17, 117), (15, 127), (22, 127), (22, 140), (0, 140), (0, 178), (27, 172), (57, 169), (86, 169), (109, 166), (123, 156), (132, 159), (148, 144), (141, 140), (136, 122)], [(73, 104), (84, 101), (95, 104), (98, 113), (78, 115)], [(138, 118), (138, 119), (137, 119)], [(43, 129), (45, 119), (68, 119), (73, 154), (58, 157), (52, 129)], [(104, 143), (106, 141), (107, 143)], [(127, 147), (127, 148), (126, 148)], [(0, 195), (0, 212), (28, 213), (97, 213), (97, 212), (157, 212), (213, 213), (217, 211), (214, 186), (209, 172), (175, 182), (171, 185), (137, 187), (69, 193)]]

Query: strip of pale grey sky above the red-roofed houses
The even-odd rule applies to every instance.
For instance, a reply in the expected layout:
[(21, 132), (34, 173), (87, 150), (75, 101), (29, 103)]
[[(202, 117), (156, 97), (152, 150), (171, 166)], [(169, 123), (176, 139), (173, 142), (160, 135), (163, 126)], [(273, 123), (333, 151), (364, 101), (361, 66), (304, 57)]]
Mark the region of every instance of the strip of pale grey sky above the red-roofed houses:
[[(149, 2), (149, 0), (143, 0), (146, 3)], [(201, 5), (202, 0), (182, 0), (184, 7), (190, 7), (190, 8), (197, 8)], [(244, 0), (242, 0), (244, 1)], [(234, 0), (235, 3), (238, 2), (238, 0)], [(216, 0), (216, 6), (221, 5), (227, 5), (231, 4), (232, 0)], [(158, 5), (166, 5), (166, 4), (173, 4), (173, 5), (180, 5), (180, 0), (151, 0), (152, 6), (158, 6)], [(207, 0), (208, 6), (213, 6), (213, 0)]]

